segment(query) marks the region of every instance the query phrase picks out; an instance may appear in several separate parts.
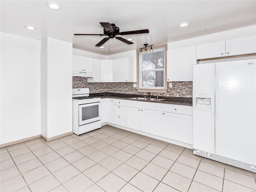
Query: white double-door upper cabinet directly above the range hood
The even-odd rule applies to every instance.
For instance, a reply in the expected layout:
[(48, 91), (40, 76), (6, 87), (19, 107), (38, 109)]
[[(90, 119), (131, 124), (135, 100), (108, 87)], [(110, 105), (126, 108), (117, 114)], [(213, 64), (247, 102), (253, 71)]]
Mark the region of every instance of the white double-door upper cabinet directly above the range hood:
[(73, 71), (93, 73), (93, 58), (73, 55)]

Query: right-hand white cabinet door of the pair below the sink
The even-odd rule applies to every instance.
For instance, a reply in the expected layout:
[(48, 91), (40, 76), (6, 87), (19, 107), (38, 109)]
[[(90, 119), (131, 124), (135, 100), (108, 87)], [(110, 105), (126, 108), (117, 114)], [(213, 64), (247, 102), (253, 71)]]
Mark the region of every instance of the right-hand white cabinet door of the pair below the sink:
[(141, 131), (158, 135), (158, 111), (140, 110), (141, 113)]

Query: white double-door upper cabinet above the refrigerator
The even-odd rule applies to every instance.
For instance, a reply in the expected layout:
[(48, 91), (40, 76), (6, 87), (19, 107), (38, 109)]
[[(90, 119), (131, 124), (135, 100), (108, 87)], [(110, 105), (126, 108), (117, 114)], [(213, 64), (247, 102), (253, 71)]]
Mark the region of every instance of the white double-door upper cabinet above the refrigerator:
[(255, 36), (247, 36), (196, 46), (197, 59), (216, 58), (255, 52)]

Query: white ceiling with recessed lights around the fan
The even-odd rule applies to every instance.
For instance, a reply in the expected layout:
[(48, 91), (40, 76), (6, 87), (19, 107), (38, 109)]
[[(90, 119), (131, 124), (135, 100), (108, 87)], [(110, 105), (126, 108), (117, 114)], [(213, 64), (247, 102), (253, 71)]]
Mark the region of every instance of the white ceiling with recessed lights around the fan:
[[(60, 10), (46, 3), (57, 2)], [(73, 48), (111, 55), (177, 40), (256, 24), (255, 0), (1, 0), (1, 32), (41, 40), (48, 36), (73, 43)], [(107, 36), (74, 36), (74, 33), (103, 34), (99, 22), (110, 22), (120, 32), (148, 29), (149, 34), (125, 35), (128, 45), (115, 38), (100, 49), (95, 45)], [(178, 27), (182, 22), (190, 24)], [(37, 28), (27, 30), (25, 25)], [(109, 50), (110, 47), (110, 50)]]

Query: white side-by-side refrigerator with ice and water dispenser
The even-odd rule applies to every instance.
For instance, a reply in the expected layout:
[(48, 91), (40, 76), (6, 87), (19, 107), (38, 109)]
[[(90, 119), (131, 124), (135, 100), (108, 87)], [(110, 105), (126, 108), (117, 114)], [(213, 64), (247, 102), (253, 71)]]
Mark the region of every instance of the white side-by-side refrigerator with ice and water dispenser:
[(256, 59), (194, 64), (193, 149), (256, 172)]

